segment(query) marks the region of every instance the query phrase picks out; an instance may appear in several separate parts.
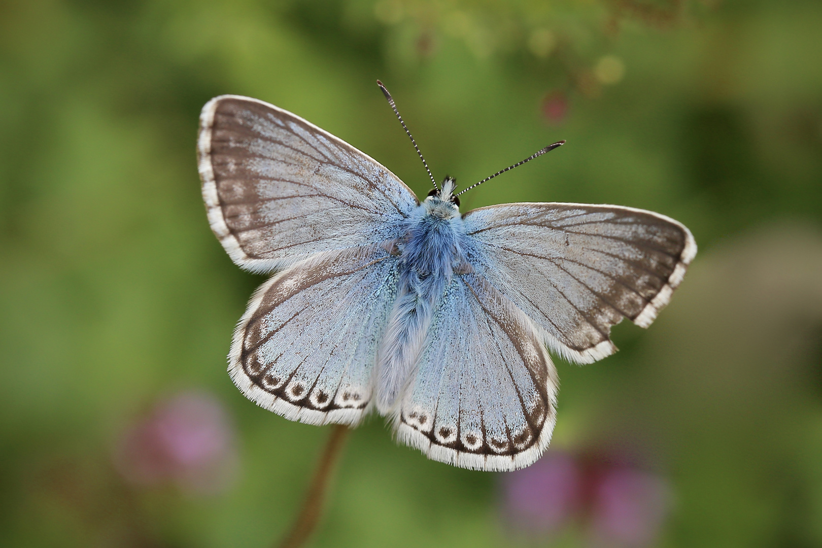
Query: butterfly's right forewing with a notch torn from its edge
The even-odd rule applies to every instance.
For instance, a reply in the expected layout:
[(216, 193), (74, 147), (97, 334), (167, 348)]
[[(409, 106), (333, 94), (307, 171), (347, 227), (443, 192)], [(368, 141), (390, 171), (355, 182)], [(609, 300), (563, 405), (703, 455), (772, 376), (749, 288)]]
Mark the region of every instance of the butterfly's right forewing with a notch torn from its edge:
[(681, 223), (618, 205), (502, 204), (464, 215), (474, 269), (566, 359), (615, 352), (623, 317), (648, 327), (696, 254)]

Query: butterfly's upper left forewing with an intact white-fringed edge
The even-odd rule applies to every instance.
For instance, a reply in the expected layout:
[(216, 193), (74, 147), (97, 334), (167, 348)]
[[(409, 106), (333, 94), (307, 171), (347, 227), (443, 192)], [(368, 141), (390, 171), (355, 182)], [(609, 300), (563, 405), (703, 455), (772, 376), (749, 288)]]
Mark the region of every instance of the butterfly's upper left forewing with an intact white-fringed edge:
[(255, 272), (399, 237), (418, 204), (376, 160), (257, 99), (205, 104), (197, 150), (211, 229)]

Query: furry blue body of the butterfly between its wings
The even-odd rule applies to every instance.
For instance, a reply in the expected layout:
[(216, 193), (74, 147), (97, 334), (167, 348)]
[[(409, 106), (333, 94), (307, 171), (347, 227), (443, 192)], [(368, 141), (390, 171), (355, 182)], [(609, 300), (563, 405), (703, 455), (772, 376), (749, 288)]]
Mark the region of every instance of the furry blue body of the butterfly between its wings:
[(377, 357), (380, 412), (389, 412), (403, 389), (425, 343), (434, 303), (450, 282), (455, 265), (464, 263), (461, 232), (459, 211), (439, 200), (426, 200), (409, 219), (399, 245), (399, 293)]

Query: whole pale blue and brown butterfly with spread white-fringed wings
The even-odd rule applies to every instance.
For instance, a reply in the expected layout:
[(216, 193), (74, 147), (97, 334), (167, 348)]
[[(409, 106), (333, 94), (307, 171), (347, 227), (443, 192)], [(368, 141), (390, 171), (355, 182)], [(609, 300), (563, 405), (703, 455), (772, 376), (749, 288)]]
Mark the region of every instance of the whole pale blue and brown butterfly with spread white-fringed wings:
[(273, 273), (233, 334), (242, 394), (314, 425), (376, 408), (400, 441), (458, 467), (536, 461), (556, 422), (548, 349), (576, 363), (615, 352), (611, 326), (648, 327), (696, 253), (681, 223), (618, 205), (460, 214), (455, 180), (438, 186), (424, 159), (434, 190), (420, 201), (367, 154), (248, 97), (205, 104), (197, 148), (211, 229), (242, 269)]

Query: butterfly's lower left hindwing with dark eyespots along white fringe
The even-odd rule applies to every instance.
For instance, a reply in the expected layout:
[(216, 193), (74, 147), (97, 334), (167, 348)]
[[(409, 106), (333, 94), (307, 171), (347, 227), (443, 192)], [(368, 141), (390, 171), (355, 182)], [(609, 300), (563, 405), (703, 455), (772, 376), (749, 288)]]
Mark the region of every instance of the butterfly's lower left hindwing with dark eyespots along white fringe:
[(275, 274), (234, 332), (234, 384), (293, 421), (357, 424), (371, 402), (396, 265), (382, 247), (366, 246), (328, 251)]

